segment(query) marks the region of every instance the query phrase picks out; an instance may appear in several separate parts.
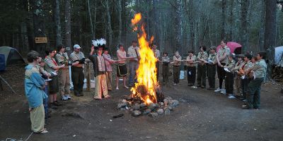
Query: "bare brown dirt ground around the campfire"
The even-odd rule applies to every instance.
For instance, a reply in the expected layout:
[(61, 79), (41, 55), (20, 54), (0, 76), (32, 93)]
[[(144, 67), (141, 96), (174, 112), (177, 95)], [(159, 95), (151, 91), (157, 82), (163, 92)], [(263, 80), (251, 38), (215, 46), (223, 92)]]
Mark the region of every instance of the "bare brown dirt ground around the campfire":
[[(28, 103), (24, 94), (23, 69), (7, 68), (1, 74), (17, 94), (3, 83), (0, 90), (0, 140), (25, 140), (30, 135)], [(122, 82), (121, 82), (122, 83)], [(129, 90), (110, 92), (111, 99), (95, 101), (93, 92), (73, 97), (52, 111), (45, 128), (50, 133), (33, 134), (29, 140), (282, 140), (282, 85), (262, 86), (261, 109), (243, 110), (238, 99), (204, 89), (192, 89), (186, 80), (179, 86), (162, 87), (166, 96), (180, 105), (169, 116), (139, 116), (117, 110), (117, 103)], [(71, 114), (72, 116), (62, 116)], [(122, 118), (112, 118), (125, 114)]]

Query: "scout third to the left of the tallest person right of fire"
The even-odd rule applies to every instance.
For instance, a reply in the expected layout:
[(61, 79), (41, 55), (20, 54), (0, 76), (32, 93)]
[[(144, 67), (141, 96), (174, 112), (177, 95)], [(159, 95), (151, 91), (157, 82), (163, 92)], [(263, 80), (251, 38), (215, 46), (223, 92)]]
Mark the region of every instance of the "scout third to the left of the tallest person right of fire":
[(194, 51), (189, 51), (189, 56), (187, 56), (187, 83), (188, 86), (195, 85), (195, 76), (196, 76), (196, 64), (197, 56), (194, 55)]

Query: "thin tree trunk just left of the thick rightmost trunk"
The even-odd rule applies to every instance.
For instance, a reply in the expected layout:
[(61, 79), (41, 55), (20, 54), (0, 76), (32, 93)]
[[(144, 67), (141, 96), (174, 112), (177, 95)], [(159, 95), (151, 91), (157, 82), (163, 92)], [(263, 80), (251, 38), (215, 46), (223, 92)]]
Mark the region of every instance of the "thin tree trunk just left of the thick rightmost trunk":
[(259, 30), (259, 37), (258, 37), (258, 47), (260, 51), (263, 51), (264, 42), (265, 42), (265, 0), (260, 0), (260, 30)]

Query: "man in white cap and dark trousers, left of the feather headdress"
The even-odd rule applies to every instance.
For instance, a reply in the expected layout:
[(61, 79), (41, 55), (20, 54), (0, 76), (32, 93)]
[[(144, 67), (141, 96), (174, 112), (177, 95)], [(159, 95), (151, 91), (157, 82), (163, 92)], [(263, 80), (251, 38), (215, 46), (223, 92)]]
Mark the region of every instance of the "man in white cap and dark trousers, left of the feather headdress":
[(80, 49), (81, 47), (79, 46), (79, 44), (75, 44), (74, 51), (70, 55), (72, 63), (79, 61), (78, 64), (71, 66), (71, 80), (73, 81), (74, 94), (76, 97), (83, 96), (83, 63), (85, 61), (85, 57)]

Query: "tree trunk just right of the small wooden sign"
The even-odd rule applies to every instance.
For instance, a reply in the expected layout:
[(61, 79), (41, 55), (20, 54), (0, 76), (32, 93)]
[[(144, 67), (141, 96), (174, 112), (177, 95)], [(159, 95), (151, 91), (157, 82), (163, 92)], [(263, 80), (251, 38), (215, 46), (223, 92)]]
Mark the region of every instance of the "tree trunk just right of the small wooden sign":
[(59, 0), (55, 0), (54, 7), (54, 21), (55, 21), (55, 29), (56, 29), (56, 46), (62, 44), (62, 36), (61, 36), (61, 22), (60, 22), (60, 2)]

